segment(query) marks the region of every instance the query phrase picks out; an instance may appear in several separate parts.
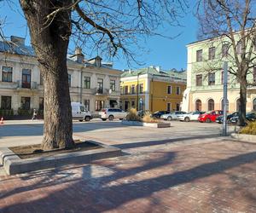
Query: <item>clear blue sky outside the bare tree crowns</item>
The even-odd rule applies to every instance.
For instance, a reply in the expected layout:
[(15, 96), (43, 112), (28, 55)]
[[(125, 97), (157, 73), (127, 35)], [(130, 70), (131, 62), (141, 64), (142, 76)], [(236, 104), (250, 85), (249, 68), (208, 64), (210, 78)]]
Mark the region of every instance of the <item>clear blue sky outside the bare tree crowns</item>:
[[(11, 35), (26, 37), (26, 44), (30, 43), (29, 32), (26, 27), (26, 20), (20, 11), (19, 3), (14, 1), (10, 7), (7, 3), (0, 3), (0, 18), (5, 18), (5, 25), (3, 28), (4, 35), (9, 37)], [(193, 2), (193, 1), (191, 1)], [(184, 14), (180, 19), (183, 26), (166, 27), (166, 35), (174, 37), (181, 33), (180, 36), (169, 39), (165, 37), (148, 37), (143, 47), (146, 52), (136, 49), (138, 55), (137, 59), (143, 62), (143, 66), (161, 66), (163, 69), (176, 68), (177, 70), (186, 69), (187, 49), (186, 44), (195, 42), (197, 34), (197, 20), (191, 12)], [(104, 55), (101, 55), (104, 60)], [(119, 57), (113, 59), (113, 66), (117, 69), (139, 68), (141, 66), (132, 63), (128, 66), (127, 61)]]

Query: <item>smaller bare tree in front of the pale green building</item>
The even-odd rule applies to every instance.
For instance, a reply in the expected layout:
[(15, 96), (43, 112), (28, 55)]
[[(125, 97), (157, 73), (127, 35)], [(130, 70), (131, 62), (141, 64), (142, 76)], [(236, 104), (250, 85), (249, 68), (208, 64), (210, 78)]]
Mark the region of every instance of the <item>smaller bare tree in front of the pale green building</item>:
[(247, 87), (256, 85), (247, 80), (255, 66), (255, 1), (202, 0), (197, 6), (200, 37), (220, 42), (224, 57), (220, 58), (218, 68), (223, 64), (221, 62), (229, 61), (229, 72), (240, 83), (239, 121), (241, 125), (245, 125)]

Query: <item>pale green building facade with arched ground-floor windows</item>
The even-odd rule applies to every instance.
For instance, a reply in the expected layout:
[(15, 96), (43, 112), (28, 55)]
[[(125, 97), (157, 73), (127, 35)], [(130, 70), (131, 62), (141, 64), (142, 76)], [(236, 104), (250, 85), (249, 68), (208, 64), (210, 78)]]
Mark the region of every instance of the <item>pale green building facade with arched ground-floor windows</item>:
[[(236, 49), (241, 52), (237, 37)], [(222, 110), (224, 89), (224, 61), (236, 70), (234, 54), (228, 41), (223, 37), (207, 39), (187, 45), (187, 89), (183, 95), (184, 111)], [(254, 49), (255, 50), (255, 49)], [(256, 69), (247, 75), (248, 82), (256, 82)], [(238, 112), (240, 107), (240, 83), (236, 76), (228, 73), (229, 112)], [(256, 110), (256, 87), (247, 88), (247, 112)]]

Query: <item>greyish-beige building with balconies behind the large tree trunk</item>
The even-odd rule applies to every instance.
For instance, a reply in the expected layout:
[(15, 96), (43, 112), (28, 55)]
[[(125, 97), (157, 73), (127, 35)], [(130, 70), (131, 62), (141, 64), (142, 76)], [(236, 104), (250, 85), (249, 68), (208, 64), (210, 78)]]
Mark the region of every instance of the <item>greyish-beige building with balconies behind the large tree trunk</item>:
[[(24, 39), (11, 37), (11, 42), (0, 42), (0, 103), (1, 109), (44, 109), (44, 82), (38, 60)], [(67, 59), (71, 101), (81, 102), (90, 112), (103, 107), (119, 106), (121, 71), (112, 64), (102, 63), (97, 56), (84, 60), (81, 49)]]

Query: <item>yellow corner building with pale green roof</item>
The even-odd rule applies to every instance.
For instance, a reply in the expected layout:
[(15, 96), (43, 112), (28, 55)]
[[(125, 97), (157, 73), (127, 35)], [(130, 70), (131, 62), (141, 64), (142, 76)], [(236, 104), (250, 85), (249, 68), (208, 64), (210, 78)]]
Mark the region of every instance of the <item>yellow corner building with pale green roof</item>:
[(180, 110), (186, 89), (186, 72), (161, 71), (160, 66), (149, 66), (121, 75), (120, 107), (149, 110), (150, 112)]

